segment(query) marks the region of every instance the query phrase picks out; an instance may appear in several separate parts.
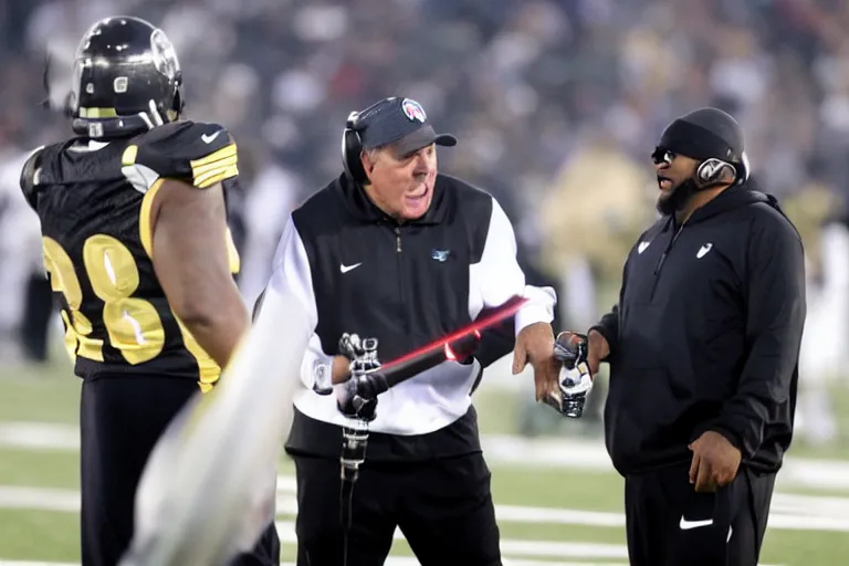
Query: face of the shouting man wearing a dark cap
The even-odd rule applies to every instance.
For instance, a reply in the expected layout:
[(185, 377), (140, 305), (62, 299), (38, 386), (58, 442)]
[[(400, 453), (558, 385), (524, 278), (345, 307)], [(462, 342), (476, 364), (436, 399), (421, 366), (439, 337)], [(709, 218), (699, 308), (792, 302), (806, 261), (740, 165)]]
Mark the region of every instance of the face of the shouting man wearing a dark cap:
[(363, 154), (369, 184), (366, 193), (377, 207), (397, 220), (424, 216), (433, 199), (437, 180), (437, 146), (399, 155), (388, 145)]

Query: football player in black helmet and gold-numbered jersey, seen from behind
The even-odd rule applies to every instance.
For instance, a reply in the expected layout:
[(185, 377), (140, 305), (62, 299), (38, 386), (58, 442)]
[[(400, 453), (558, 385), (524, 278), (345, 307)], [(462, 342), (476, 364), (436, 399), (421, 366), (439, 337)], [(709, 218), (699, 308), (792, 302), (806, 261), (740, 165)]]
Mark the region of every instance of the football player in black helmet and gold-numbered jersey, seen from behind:
[[(113, 566), (153, 447), (250, 324), (224, 198), (238, 153), (226, 128), (181, 118), (177, 55), (144, 20), (95, 23), (73, 76), (75, 136), (36, 149), (21, 188), (82, 378), (82, 563)], [(235, 564), (279, 563), (269, 516)]]

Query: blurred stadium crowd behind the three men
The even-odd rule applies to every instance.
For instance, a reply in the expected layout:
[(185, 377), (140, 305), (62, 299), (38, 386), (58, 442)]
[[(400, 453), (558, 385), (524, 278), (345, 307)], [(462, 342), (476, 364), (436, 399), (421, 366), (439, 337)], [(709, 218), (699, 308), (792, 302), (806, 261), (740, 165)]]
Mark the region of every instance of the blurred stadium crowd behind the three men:
[[(441, 169), (496, 196), (530, 277), (560, 292), (558, 324), (586, 327), (615, 300), (622, 260), (656, 213), (648, 156), (660, 132), (713, 105), (740, 120), (755, 181), (806, 241), (809, 382), (845, 363), (846, 0), (0, 0), (0, 342), (19, 335), (22, 294), (41, 275), (20, 163), (70, 133), (40, 104), (45, 57), (60, 108), (80, 36), (113, 14), (165, 30), (187, 117), (221, 123), (239, 143), (233, 224), (249, 304), (287, 211), (340, 171), (348, 113), (398, 94), (459, 137), (440, 150)], [(828, 412), (824, 395), (809, 415)]]

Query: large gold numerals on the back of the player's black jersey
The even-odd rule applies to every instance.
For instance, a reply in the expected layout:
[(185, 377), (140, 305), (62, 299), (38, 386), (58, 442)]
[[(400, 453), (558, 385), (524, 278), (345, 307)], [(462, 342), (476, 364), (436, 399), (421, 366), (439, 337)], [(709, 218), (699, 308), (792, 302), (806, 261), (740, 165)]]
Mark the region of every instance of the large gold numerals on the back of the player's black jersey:
[[(65, 347), (71, 357), (103, 361), (103, 340), (91, 337), (92, 322), (80, 311), (83, 291), (71, 258), (52, 238), (43, 238), (44, 264), (53, 291), (64, 295), (70, 313), (62, 312)], [(127, 363), (154, 359), (165, 346), (165, 328), (156, 307), (133, 297), (138, 289), (138, 266), (118, 240), (94, 234), (83, 244), (83, 263), (94, 294), (103, 301), (103, 325), (109, 344)]]

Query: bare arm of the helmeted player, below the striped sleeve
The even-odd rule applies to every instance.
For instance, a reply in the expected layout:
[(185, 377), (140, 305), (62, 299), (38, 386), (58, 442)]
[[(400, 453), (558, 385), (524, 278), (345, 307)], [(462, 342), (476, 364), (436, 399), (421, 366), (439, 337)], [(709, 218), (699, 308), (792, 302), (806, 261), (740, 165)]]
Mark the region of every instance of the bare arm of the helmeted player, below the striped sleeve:
[(151, 210), (153, 263), (168, 303), (224, 367), (250, 318), (233, 281), (221, 184), (199, 189), (163, 180)]

